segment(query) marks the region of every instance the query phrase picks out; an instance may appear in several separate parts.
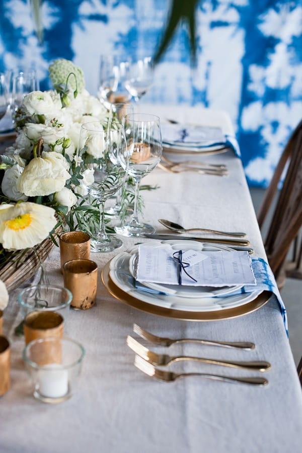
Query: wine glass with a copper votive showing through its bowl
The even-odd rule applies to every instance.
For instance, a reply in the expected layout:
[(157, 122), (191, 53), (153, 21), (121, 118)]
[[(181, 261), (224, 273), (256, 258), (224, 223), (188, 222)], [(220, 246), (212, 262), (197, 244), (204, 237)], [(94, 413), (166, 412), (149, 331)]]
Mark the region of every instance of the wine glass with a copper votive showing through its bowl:
[(141, 179), (161, 160), (162, 135), (160, 119), (155, 115), (134, 113), (125, 116), (125, 134), (129, 155), (128, 174), (135, 181), (134, 211), (129, 223), (115, 227), (123, 236), (143, 236), (155, 232), (152, 225), (138, 220), (137, 199)]

